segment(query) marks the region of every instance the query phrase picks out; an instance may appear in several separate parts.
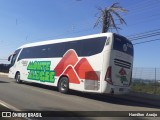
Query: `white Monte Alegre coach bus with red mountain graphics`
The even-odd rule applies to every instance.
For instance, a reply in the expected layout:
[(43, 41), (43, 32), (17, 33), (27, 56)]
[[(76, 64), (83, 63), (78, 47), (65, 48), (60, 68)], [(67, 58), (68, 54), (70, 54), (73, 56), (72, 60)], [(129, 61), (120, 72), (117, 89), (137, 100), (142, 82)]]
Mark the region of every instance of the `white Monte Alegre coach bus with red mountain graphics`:
[(133, 45), (115, 33), (35, 42), (19, 47), (9, 57), (9, 77), (91, 92), (124, 94), (129, 91)]

